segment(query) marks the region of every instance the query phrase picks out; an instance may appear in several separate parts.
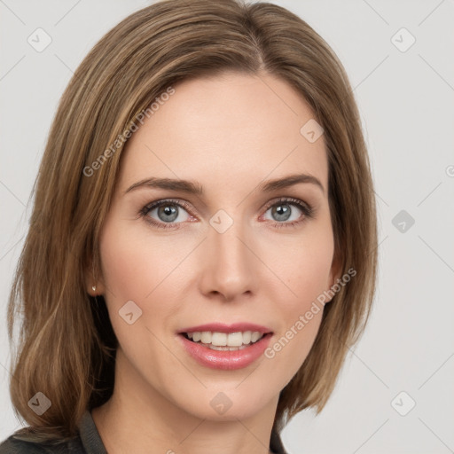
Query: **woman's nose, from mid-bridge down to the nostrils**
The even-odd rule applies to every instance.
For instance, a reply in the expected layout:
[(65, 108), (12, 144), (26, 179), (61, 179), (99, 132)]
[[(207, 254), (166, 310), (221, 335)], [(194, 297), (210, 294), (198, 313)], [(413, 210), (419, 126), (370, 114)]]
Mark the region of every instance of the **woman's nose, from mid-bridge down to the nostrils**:
[(254, 248), (253, 237), (240, 222), (223, 233), (210, 225), (200, 256), (201, 292), (221, 294), (228, 301), (254, 294), (260, 274)]

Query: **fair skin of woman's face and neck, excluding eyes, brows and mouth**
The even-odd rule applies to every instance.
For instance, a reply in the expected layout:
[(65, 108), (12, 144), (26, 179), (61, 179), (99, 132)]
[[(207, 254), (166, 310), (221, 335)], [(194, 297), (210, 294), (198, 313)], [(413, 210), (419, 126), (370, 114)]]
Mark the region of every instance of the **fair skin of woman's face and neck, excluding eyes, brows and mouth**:
[[(301, 367), (315, 340), (320, 310), (272, 359), (219, 371), (195, 362), (176, 332), (208, 322), (270, 327), (273, 345), (339, 278), (328, 206), (324, 137), (309, 143), (301, 126), (314, 118), (286, 82), (270, 74), (225, 73), (174, 85), (176, 92), (132, 135), (121, 156), (114, 200), (100, 238), (102, 276), (90, 294), (104, 294), (119, 340), (112, 398), (92, 411), (109, 454), (125, 452), (265, 454), (279, 392)], [(294, 173), (316, 176), (272, 193), (262, 180)], [(150, 177), (198, 182), (205, 195), (157, 188), (124, 192)], [(283, 221), (267, 202), (290, 197), (309, 203), (301, 220), (294, 205)], [(138, 212), (150, 202), (186, 200), (176, 207), (180, 228), (160, 229)], [(279, 205), (279, 203), (278, 203)], [(231, 227), (209, 223), (223, 209)], [(168, 214), (167, 214), (168, 216)], [(158, 209), (148, 217), (165, 224)], [(142, 316), (119, 316), (126, 301)], [(219, 392), (231, 408), (218, 414)]]

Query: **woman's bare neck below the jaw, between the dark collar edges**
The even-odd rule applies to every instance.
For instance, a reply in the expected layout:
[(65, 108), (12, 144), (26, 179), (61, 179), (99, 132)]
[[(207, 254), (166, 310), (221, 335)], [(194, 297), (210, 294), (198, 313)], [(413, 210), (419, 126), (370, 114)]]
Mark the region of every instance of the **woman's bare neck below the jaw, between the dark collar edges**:
[[(91, 412), (109, 454), (269, 454), (278, 396), (252, 416), (231, 406), (222, 417), (184, 410), (166, 390), (145, 382), (117, 351), (112, 397)], [(126, 371), (122, 372), (122, 371)], [(132, 373), (131, 373), (132, 372)], [(212, 393), (208, 392), (207, 395)], [(216, 395), (217, 393), (215, 393)], [(207, 397), (207, 401), (210, 398)], [(212, 418), (212, 415), (215, 418)]]

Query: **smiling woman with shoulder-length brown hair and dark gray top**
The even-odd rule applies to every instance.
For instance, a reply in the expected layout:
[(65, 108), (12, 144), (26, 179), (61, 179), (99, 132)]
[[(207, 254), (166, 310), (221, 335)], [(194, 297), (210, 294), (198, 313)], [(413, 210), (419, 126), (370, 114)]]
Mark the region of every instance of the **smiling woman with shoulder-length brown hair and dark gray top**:
[(164, 0), (107, 33), (51, 128), (12, 287), (0, 452), (285, 453), (375, 289), (348, 78), (273, 4)]

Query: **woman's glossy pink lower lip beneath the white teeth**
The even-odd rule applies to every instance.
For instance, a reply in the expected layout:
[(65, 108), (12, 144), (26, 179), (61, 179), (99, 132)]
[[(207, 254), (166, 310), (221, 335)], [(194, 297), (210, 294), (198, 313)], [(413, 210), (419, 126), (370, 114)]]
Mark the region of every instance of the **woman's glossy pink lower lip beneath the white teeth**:
[(249, 364), (254, 363), (255, 360), (262, 356), (263, 352), (270, 344), (271, 336), (272, 333), (265, 334), (261, 340), (241, 350), (222, 351), (204, 347), (200, 343), (186, 339), (183, 334), (178, 334), (186, 351), (199, 364), (212, 369), (222, 369), (223, 371), (242, 369), (243, 367), (247, 367)]

